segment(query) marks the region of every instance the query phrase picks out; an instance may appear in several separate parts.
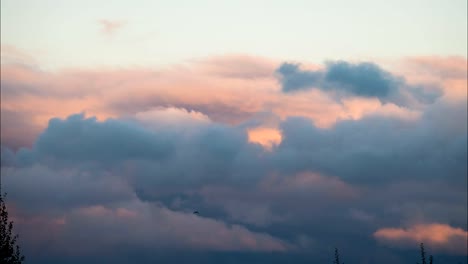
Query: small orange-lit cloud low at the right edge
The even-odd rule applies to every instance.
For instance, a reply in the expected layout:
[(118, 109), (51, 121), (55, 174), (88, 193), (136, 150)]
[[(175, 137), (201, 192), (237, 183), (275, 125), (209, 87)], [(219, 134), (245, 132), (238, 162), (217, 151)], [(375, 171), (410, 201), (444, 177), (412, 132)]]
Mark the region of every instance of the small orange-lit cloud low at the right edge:
[(424, 243), (431, 250), (467, 255), (468, 232), (446, 224), (419, 224), (410, 228), (382, 228), (374, 233), (382, 243), (417, 247)]

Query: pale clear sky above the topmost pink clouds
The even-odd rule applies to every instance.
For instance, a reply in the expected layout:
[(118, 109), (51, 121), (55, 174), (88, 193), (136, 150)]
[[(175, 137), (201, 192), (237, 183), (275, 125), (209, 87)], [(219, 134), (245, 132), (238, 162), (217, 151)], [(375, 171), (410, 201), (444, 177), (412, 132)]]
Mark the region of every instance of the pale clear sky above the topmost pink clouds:
[[(99, 20), (125, 21), (112, 35)], [(48, 69), (158, 66), (230, 53), (279, 60), (467, 56), (466, 0), (2, 0), (1, 44)]]

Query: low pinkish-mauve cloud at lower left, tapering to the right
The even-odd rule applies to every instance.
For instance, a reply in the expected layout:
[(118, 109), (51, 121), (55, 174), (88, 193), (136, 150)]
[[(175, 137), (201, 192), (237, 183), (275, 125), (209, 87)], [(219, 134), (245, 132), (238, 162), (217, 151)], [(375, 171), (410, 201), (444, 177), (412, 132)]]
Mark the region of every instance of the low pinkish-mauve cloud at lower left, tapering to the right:
[[(60, 216), (22, 215), (13, 206), (15, 228), (27, 247), (41, 245), (67, 255), (106, 251), (119, 244), (151, 247), (155, 250), (192, 248), (221, 251), (288, 251), (289, 242), (240, 225), (176, 212), (133, 200), (116, 206), (92, 205), (70, 209)], [(45, 226), (45, 229), (37, 229)]]

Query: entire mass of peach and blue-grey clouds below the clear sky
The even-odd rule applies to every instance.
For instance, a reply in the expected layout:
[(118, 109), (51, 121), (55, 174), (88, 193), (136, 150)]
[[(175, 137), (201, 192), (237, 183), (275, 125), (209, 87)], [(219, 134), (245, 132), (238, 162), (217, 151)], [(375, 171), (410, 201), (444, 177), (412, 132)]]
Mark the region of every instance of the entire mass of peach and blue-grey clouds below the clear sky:
[[(2, 65), (2, 188), (25, 251), (67, 263), (114, 263), (103, 252), (125, 255), (115, 263), (148, 252), (310, 263), (338, 246), (347, 263), (391, 263), (408, 260), (404, 250), (376, 238), (455, 241), (455, 227), (468, 228), (466, 82), (431, 63), (431, 79), (415, 66), (283, 65), (297, 87), (320, 73), (318, 89), (297, 93), (256, 57), (157, 70)], [(398, 104), (432, 87), (443, 95)], [(460, 254), (437, 245), (440, 259)]]

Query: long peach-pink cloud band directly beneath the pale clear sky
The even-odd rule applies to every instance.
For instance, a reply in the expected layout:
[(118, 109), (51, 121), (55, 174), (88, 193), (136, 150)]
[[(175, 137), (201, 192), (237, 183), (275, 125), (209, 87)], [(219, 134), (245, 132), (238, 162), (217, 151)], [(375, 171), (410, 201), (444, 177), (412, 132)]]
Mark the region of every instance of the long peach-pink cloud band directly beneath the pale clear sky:
[[(8, 49), (3, 53), (8, 53)], [(211, 57), (164, 69), (46, 72), (4, 64), (1, 109), (21, 114), (38, 128), (45, 128), (50, 118), (65, 118), (83, 111), (104, 119), (161, 107), (199, 112), (214, 122), (228, 124), (245, 122), (258, 113), (271, 113), (282, 120), (301, 116), (322, 128), (368, 115), (410, 119), (420, 115), (416, 110), (382, 104), (374, 98), (345, 98), (337, 102), (320, 90), (284, 94), (274, 74), (278, 65), (280, 62), (247, 55)], [(453, 67), (462, 65), (456, 63)], [(450, 86), (447, 90), (452, 92), (447, 94), (453, 97), (466, 94), (466, 82), (460, 79), (445, 80), (444, 85)], [(278, 133), (272, 130), (251, 132), (251, 140), (264, 146), (280, 141)]]

